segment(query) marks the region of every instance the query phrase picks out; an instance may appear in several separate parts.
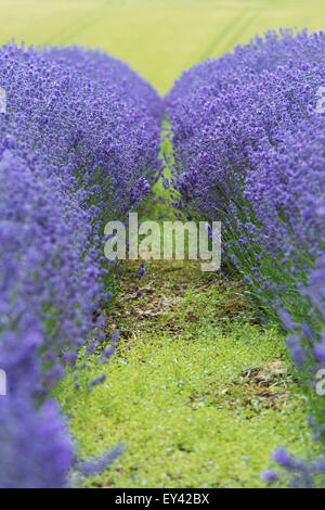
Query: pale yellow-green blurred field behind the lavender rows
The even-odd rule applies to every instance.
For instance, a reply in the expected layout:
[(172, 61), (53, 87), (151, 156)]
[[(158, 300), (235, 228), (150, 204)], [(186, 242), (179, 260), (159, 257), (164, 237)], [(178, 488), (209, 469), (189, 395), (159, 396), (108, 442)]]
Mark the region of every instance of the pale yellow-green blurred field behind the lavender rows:
[(182, 69), (268, 28), (324, 28), (325, 0), (0, 0), (1, 43), (86, 44), (127, 61), (160, 93)]

